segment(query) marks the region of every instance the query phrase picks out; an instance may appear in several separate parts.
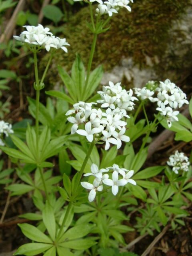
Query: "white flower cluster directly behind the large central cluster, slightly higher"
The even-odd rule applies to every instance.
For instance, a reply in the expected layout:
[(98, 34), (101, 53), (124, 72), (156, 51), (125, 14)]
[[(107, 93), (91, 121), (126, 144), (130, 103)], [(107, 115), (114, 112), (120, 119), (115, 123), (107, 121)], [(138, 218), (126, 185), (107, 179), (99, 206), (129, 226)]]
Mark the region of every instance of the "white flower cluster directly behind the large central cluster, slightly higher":
[(108, 86), (103, 86), (102, 91), (98, 91), (102, 100), (98, 100), (98, 103), (101, 103), (102, 108), (119, 108), (122, 111), (122, 114), (129, 118), (126, 115), (126, 111), (131, 111), (134, 109), (134, 100), (138, 100), (133, 96), (133, 91), (130, 89), (126, 91), (122, 88), (121, 83), (114, 84), (109, 82)]

